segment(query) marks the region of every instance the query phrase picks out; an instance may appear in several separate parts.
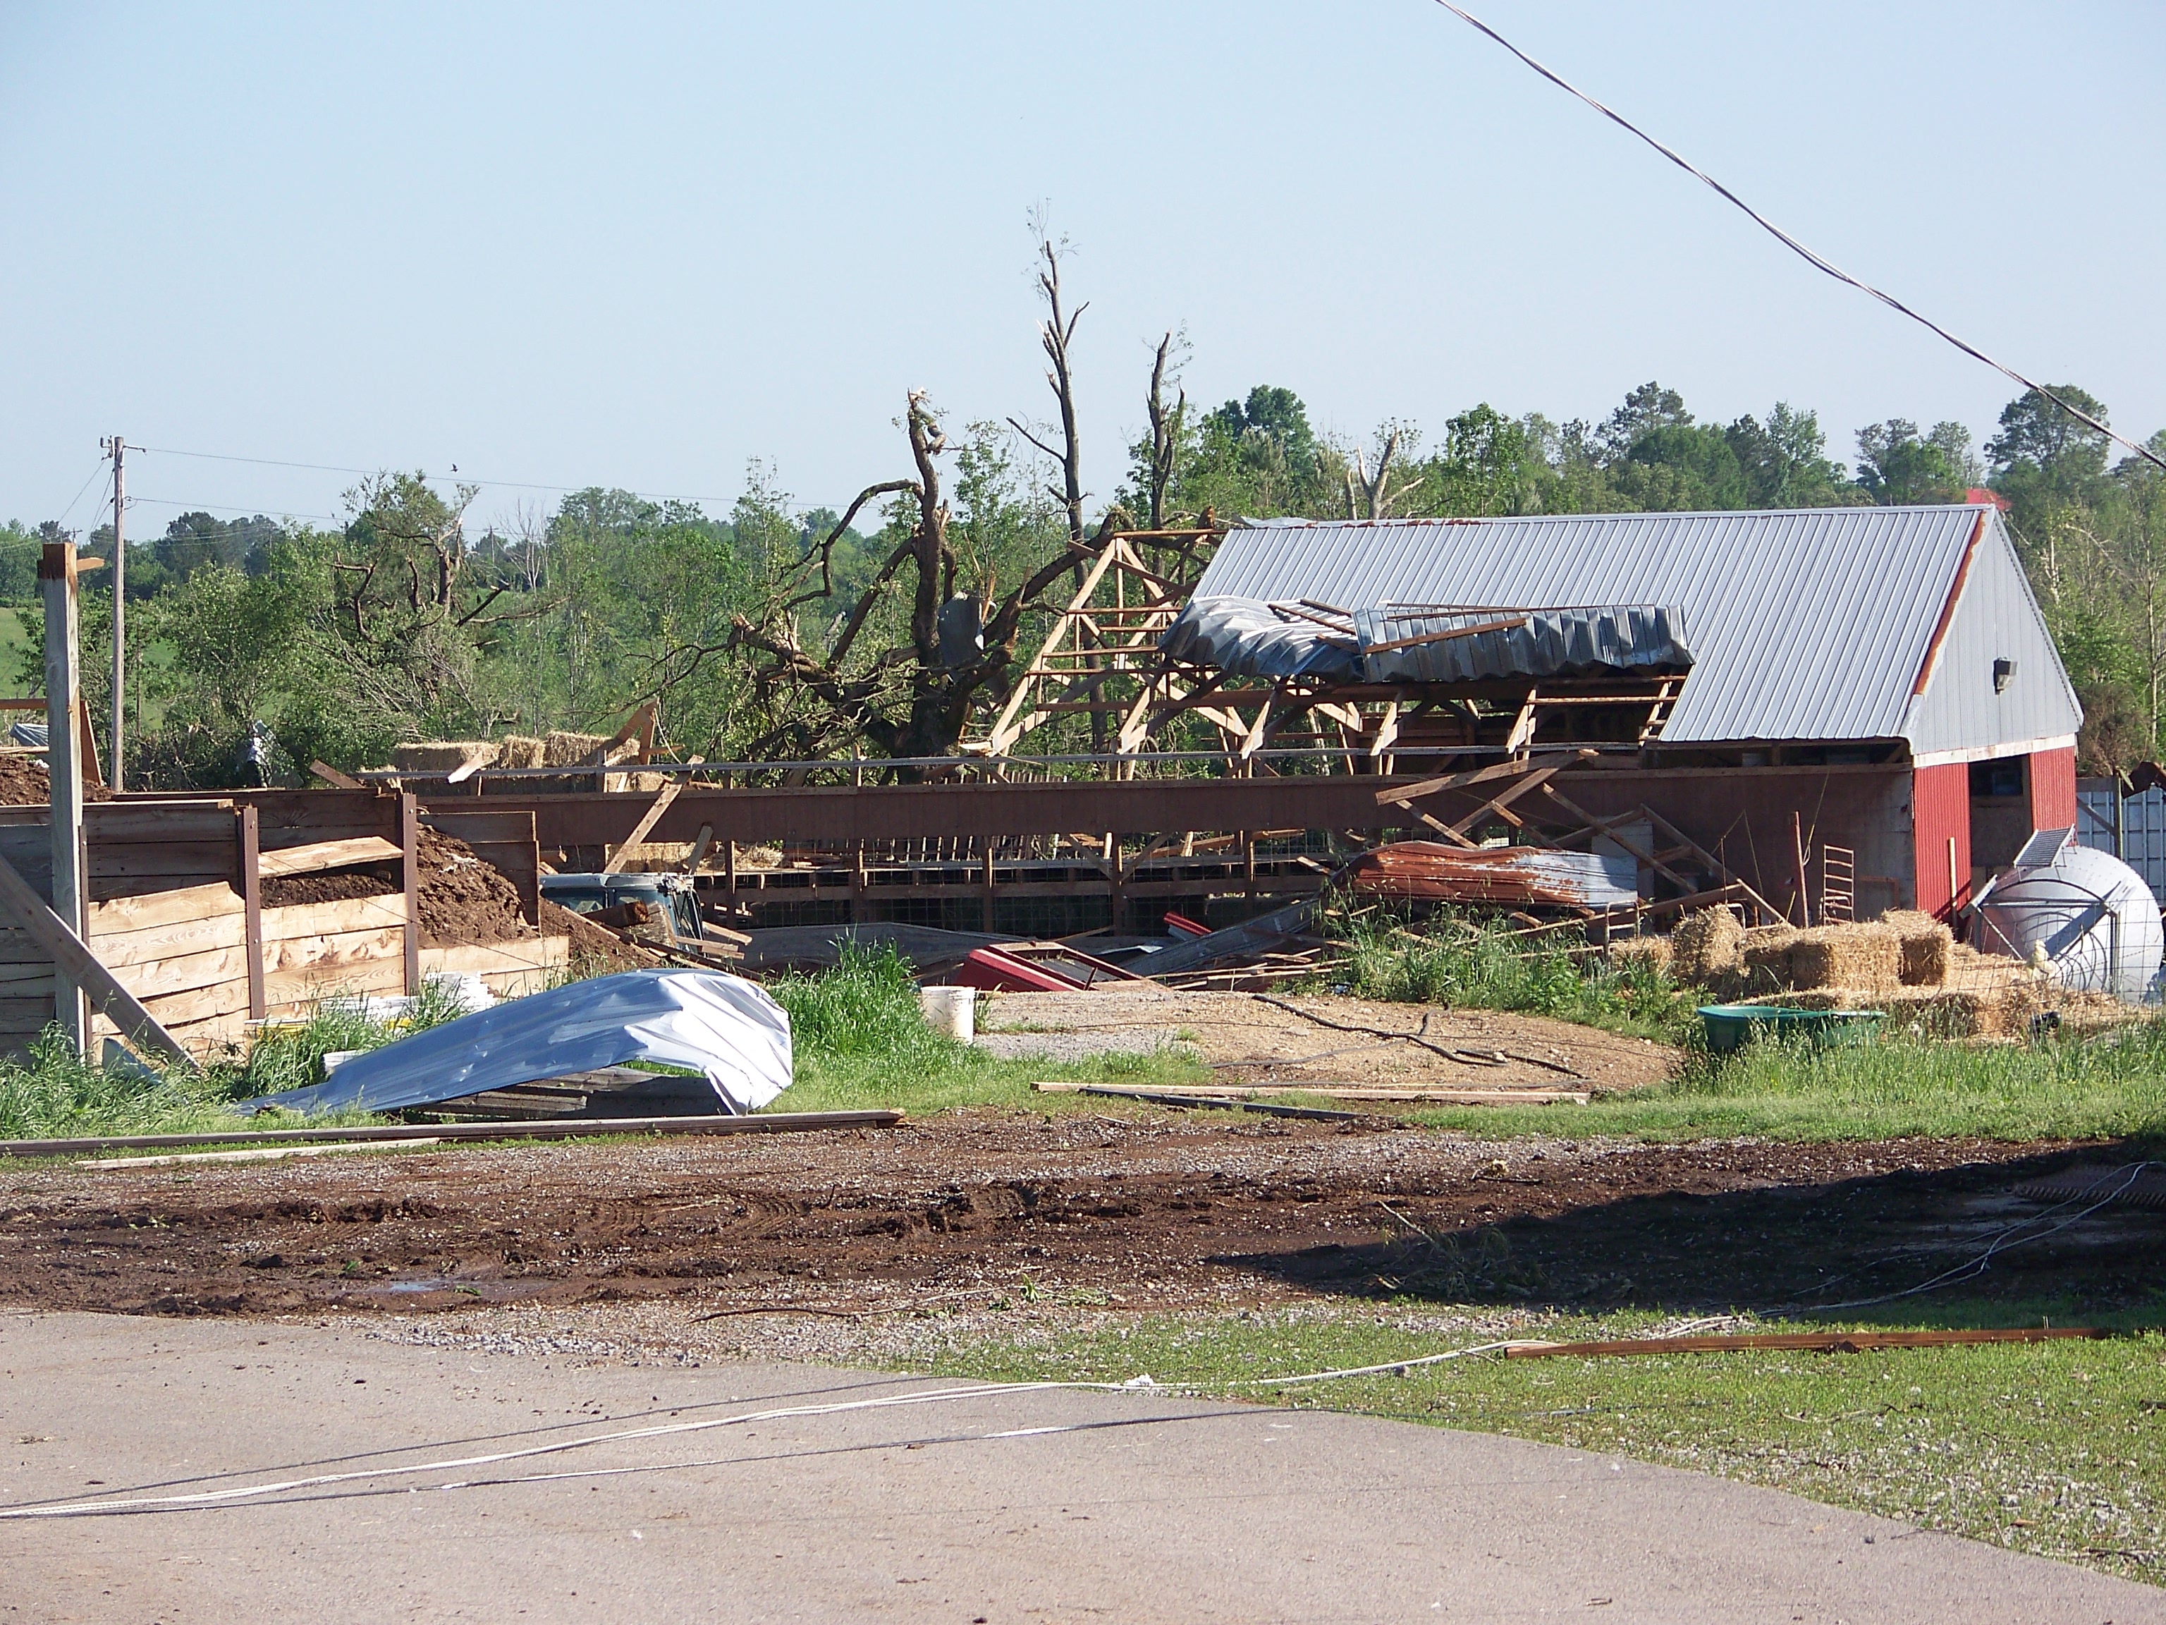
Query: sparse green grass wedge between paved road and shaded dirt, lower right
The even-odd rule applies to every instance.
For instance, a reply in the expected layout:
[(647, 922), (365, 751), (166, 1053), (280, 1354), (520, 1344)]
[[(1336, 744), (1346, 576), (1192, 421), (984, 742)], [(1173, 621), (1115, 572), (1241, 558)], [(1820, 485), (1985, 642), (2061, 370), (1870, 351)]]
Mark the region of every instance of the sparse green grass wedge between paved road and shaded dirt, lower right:
[[(1930, 1324), (2023, 1324), (2006, 1306), (1991, 1315), (1958, 1304)], [(1488, 1309), (1102, 1320), (1081, 1332), (1053, 1322), (1048, 1330), (951, 1343), (940, 1367), (1014, 1380), (1124, 1382), (1148, 1374), (1222, 1398), (1538, 1439), (2166, 1580), (2166, 1419), (2155, 1398), (2166, 1391), (2166, 1337), (2155, 1330), (2099, 1343), (1865, 1354), (1462, 1358), (1404, 1376), (1256, 1382), (1503, 1337), (1577, 1341), (1653, 1328), (1648, 1313), (1503, 1322)]]

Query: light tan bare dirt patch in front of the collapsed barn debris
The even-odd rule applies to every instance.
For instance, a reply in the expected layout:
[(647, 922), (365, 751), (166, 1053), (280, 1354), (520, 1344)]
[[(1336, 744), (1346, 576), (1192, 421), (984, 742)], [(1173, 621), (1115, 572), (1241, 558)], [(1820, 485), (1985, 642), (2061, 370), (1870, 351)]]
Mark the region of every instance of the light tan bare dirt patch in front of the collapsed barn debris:
[(1544, 1016), (1367, 999), (1170, 992), (1152, 984), (1122, 984), (1100, 992), (994, 994), (979, 1005), (979, 1025), (986, 1029), (986, 1049), (1005, 1055), (1077, 1060), (1105, 1049), (1148, 1051), (1187, 1042), (1224, 1083), (1289, 1088), (1388, 1083), (1633, 1090), (1659, 1083), (1679, 1060), (1674, 1049), (1646, 1038), (1620, 1038)]

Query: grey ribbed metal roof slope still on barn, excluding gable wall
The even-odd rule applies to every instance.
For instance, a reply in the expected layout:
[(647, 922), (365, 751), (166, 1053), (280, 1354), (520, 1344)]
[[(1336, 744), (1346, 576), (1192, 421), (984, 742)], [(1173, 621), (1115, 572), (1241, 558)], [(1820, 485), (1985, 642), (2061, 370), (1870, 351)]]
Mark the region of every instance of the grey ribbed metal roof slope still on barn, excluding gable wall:
[(1978, 507), (1267, 520), (1193, 598), (1674, 604), (1696, 659), (1668, 743), (1900, 739), (1982, 516), (1997, 531)]

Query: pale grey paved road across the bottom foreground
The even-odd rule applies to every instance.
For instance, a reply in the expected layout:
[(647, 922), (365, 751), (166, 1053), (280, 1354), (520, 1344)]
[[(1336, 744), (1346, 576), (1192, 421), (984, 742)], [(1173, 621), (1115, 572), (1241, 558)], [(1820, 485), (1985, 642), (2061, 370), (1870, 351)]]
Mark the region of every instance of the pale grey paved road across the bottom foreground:
[[(6, 1508), (340, 1476), (0, 1519), (0, 1625), (2166, 1621), (2144, 1586), (1549, 1445), (1150, 1393), (895, 1404), (953, 1387), (0, 1315)], [(801, 1415), (747, 1419), (773, 1410)], [(674, 1432), (472, 1460), (637, 1428)]]

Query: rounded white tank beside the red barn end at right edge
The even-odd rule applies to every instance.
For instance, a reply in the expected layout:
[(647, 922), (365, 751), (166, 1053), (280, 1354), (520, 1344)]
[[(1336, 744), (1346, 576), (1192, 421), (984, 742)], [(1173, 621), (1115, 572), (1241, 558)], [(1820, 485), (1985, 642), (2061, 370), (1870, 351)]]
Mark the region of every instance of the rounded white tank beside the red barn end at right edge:
[(2060, 986), (2129, 1003), (2144, 1001), (2166, 955), (2160, 903), (2144, 877), (2073, 841), (2051, 862), (2019, 862), (1997, 877), (1978, 914), (1982, 951), (2032, 960), (2043, 949)]

